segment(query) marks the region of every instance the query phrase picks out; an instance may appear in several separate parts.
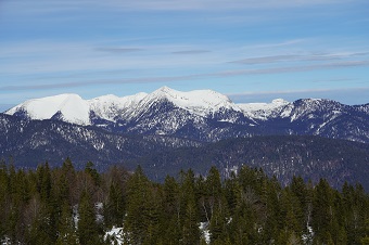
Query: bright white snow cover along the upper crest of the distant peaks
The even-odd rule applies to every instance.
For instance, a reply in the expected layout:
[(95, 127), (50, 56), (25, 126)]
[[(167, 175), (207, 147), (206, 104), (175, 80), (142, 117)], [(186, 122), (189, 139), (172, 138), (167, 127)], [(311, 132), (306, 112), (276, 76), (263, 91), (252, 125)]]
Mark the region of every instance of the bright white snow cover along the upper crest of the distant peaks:
[(228, 96), (212, 90), (181, 92), (163, 87), (152, 93), (137, 93), (129, 96), (102, 95), (84, 100), (78, 94), (60, 94), (28, 100), (5, 112), (9, 115), (24, 113), (30, 119), (52, 119), (58, 117), (67, 122), (91, 125), (91, 113), (99, 118), (114, 121), (115, 118), (130, 119), (138, 112), (154, 103), (167, 101), (196, 116), (207, 116), (219, 109), (232, 109), (252, 115), (255, 111), (272, 109), (288, 102), (276, 100), (271, 104), (234, 104)]

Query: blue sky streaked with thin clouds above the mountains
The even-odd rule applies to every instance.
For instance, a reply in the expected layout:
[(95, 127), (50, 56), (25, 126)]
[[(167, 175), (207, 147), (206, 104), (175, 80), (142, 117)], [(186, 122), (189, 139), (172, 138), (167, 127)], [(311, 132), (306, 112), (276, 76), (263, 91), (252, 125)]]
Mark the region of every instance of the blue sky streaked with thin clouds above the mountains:
[(0, 0), (0, 112), (163, 86), (369, 103), (369, 1)]

